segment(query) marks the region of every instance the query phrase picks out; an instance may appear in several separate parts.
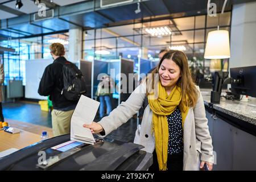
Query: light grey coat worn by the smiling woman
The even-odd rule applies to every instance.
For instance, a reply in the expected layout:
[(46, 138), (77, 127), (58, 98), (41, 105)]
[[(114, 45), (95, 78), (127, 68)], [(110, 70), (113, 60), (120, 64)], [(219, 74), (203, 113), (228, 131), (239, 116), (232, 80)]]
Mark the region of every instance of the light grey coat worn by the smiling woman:
[[(199, 87), (197, 86), (199, 90)], [(122, 102), (108, 117), (101, 119), (101, 126), (105, 130), (105, 137), (123, 123), (127, 122), (141, 108), (146, 97), (146, 84), (139, 85), (127, 101)], [(183, 170), (199, 170), (200, 160), (213, 163), (213, 146), (210, 137), (203, 97), (199, 91), (199, 98), (195, 108), (189, 108), (184, 122), (184, 157)], [(144, 110), (141, 130), (137, 129), (134, 143), (144, 146), (142, 150), (152, 153), (155, 149), (155, 138), (152, 133), (152, 111), (147, 105)]]

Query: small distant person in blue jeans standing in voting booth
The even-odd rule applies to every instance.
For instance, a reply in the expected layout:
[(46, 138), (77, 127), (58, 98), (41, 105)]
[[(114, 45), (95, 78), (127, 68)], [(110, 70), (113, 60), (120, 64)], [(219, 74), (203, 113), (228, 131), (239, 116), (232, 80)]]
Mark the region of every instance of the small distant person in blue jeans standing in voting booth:
[(100, 98), (100, 118), (104, 117), (105, 114), (105, 103), (107, 114), (112, 111), (112, 100), (111, 100), (111, 90), (114, 88), (113, 81), (110, 76), (105, 75), (98, 84), (96, 96)]

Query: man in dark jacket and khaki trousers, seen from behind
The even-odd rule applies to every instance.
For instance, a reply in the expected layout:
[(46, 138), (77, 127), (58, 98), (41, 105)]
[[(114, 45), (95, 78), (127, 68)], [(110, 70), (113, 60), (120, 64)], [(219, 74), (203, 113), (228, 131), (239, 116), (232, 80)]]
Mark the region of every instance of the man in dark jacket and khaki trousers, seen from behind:
[(63, 44), (53, 43), (49, 49), (54, 61), (44, 70), (38, 93), (41, 96), (50, 96), (52, 100), (52, 130), (54, 137), (56, 137), (70, 133), (71, 117), (77, 101), (69, 101), (61, 94), (63, 89), (62, 68), (65, 61), (67, 61), (64, 57)]

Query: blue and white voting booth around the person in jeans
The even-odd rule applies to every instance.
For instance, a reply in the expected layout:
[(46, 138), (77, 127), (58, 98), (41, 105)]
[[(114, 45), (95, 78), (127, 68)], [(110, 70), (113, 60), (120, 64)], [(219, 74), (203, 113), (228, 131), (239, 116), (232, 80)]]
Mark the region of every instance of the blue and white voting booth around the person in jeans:
[[(100, 82), (102, 74), (109, 75), (115, 82), (115, 88), (118, 90), (122, 89), (125, 92), (119, 93), (115, 90), (113, 98), (118, 100), (118, 105), (122, 101), (126, 101), (130, 96), (129, 93), (129, 73), (133, 73), (134, 61), (128, 59), (114, 59), (114, 60), (94, 60), (93, 61), (93, 72), (92, 72), (92, 98), (95, 96), (97, 86)], [(121, 73), (127, 77), (127, 84), (121, 85)]]

